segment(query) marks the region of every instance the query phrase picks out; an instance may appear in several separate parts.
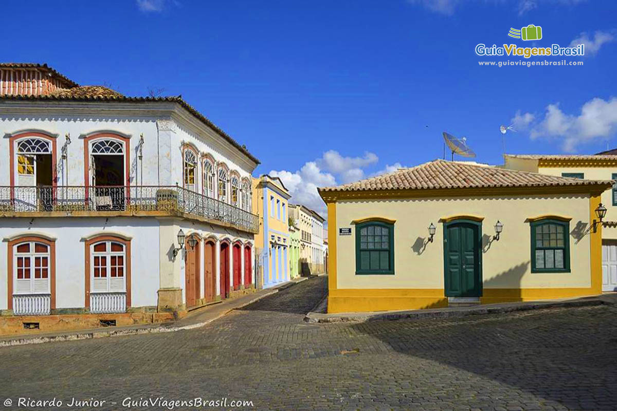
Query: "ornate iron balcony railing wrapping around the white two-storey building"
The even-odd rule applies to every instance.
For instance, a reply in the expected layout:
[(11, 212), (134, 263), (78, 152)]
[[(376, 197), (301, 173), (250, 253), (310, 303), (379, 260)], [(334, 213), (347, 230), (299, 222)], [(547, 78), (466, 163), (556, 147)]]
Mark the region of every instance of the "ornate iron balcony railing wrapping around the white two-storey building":
[(255, 214), (177, 185), (0, 187), (0, 213), (41, 211), (163, 211), (259, 229)]

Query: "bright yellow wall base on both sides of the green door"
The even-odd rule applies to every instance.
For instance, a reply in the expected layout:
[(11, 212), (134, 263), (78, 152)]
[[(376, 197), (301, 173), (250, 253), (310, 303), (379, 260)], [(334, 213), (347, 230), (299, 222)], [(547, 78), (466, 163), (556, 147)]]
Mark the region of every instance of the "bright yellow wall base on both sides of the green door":
[[(485, 288), (481, 304), (516, 303), (542, 299), (576, 298), (599, 295), (592, 288)], [(402, 311), (448, 306), (444, 290), (433, 289), (345, 289), (330, 290), (328, 313)]]

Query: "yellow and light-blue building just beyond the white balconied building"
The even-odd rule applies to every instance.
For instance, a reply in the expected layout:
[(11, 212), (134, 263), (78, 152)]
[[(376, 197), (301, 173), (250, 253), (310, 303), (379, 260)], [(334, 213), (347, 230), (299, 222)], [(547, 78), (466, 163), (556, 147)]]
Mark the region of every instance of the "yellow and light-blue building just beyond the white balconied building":
[(290, 279), (288, 200), (289, 191), (278, 177), (267, 174), (253, 179), (253, 210), (259, 216), (255, 246), (259, 253), (260, 284), (272, 287)]

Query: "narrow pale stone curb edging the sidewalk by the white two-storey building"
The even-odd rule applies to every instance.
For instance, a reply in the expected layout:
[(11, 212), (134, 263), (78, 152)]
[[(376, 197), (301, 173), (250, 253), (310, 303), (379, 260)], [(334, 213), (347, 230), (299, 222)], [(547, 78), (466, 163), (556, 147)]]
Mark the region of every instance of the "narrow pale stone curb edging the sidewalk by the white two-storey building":
[(297, 281), (291, 281), (289, 283), (284, 283), (279, 287), (273, 287), (269, 292), (263, 293), (260, 296), (257, 296), (246, 303), (242, 303), (239, 306), (231, 307), (230, 309), (221, 312), (221, 314), (209, 319), (207, 321), (197, 322), (194, 324), (187, 325), (152, 325), (152, 326), (141, 326), (139, 328), (127, 328), (124, 330), (96, 330), (90, 332), (73, 332), (62, 335), (54, 335), (54, 336), (17, 336), (11, 340), (0, 341), (0, 348), (2, 347), (10, 347), (17, 345), (26, 345), (26, 344), (42, 344), (42, 343), (54, 343), (58, 341), (78, 341), (78, 340), (91, 340), (93, 338), (104, 338), (104, 337), (114, 337), (114, 336), (124, 336), (124, 335), (138, 335), (138, 334), (154, 334), (154, 333), (170, 333), (182, 330), (192, 330), (193, 328), (203, 327), (206, 324), (214, 320), (218, 320), (221, 317), (229, 314), (231, 311), (236, 309), (240, 309), (242, 307), (246, 307), (249, 304), (255, 303), (255, 301), (259, 301), (262, 298), (278, 293), (279, 291), (286, 290), (293, 285), (303, 282), (307, 280), (309, 277), (302, 277)]

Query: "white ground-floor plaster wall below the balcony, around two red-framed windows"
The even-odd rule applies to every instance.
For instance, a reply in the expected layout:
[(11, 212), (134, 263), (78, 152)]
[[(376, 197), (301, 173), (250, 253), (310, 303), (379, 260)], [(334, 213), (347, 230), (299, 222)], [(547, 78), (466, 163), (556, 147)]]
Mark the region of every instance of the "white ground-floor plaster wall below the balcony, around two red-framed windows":
[[(85, 245), (81, 238), (118, 232), (131, 240), (131, 306), (156, 306), (159, 222), (154, 218), (12, 218), (0, 220), (0, 238), (42, 232), (56, 237), (56, 307), (84, 307)], [(0, 309), (7, 309), (7, 243), (0, 242)]]

